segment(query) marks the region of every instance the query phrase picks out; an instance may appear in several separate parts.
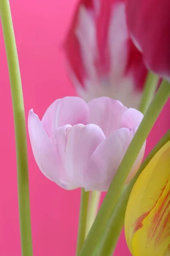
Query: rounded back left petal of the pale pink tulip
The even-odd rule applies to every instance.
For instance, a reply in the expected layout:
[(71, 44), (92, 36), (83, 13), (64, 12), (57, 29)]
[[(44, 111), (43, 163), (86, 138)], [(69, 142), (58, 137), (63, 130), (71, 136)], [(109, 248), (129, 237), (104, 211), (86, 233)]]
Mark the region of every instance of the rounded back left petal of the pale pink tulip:
[(88, 106), (79, 97), (65, 97), (55, 101), (42, 118), (48, 137), (60, 126), (77, 123), (88, 124)]

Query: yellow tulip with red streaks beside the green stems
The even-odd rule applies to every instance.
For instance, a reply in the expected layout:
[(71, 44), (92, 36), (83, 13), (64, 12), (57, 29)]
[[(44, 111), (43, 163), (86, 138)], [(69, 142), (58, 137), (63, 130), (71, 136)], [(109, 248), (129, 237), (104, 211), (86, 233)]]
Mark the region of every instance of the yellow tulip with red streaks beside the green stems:
[(170, 141), (150, 160), (132, 189), (125, 236), (133, 256), (170, 256)]

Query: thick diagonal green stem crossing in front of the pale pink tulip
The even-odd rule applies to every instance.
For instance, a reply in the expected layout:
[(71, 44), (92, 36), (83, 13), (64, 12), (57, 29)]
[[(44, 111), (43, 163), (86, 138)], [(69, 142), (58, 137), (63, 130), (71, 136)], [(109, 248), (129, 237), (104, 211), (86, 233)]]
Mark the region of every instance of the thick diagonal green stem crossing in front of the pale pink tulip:
[(94, 248), (102, 235), (104, 227), (111, 216), (111, 212), (125, 183), (125, 180), (127, 179), (127, 176), (133, 167), (144, 141), (150, 133), (151, 128), (153, 127), (169, 96), (170, 84), (167, 81), (163, 81), (146, 114), (144, 115), (144, 118), (139, 125), (139, 128), (136, 131), (129, 148), (127, 149), (122, 163), (120, 164), (119, 169), (112, 180), (111, 186), (108, 189), (105, 199), (103, 200), (85, 243), (82, 246), (79, 256), (92, 255)]

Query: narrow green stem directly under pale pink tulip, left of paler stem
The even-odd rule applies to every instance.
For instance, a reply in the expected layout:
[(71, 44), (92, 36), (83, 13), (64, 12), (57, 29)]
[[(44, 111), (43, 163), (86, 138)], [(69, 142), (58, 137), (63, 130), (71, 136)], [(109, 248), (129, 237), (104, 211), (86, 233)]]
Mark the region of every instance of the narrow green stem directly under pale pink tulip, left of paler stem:
[(79, 212), (79, 230), (78, 230), (77, 250), (76, 250), (77, 256), (79, 255), (79, 252), (85, 241), (85, 230), (86, 230), (86, 221), (87, 221), (87, 212), (88, 212), (88, 198), (89, 198), (89, 191), (85, 192), (85, 189), (82, 188), (80, 212)]

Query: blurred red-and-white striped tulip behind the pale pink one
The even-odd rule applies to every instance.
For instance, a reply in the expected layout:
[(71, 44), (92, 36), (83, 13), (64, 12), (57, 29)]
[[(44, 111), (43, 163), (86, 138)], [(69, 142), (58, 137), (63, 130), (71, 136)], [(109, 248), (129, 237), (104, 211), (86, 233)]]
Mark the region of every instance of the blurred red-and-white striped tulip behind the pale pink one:
[(108, 96), (137, 108), (147, 70), (126, 24), (125, 0), (81, 0), (65, 40), (69, 76), (85, 101)]

